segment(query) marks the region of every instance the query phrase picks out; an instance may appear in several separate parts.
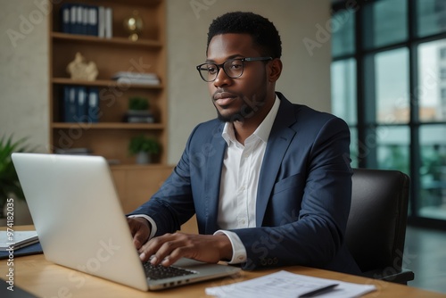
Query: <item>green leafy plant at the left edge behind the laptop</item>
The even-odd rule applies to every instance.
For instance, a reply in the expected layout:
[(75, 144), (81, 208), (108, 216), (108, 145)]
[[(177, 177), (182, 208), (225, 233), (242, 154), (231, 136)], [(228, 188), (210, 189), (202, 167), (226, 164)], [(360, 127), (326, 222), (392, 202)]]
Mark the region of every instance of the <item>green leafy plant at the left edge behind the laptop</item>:
[(0, 218), (4, 218), (4, 204), (9, 198), (25, 200), (17, 172), (12, 163), (11, 154), (14, 152), (29, 152), (26, 138), (12, 141), (12, 136), (0, 139)]

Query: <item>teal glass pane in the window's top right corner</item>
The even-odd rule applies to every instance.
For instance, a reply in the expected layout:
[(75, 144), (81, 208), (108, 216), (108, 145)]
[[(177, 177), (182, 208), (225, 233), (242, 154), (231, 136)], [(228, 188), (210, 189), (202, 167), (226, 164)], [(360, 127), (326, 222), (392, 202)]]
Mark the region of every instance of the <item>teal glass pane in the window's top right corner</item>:
[(417, 0), (417, 35), (425, 37), (446, 31), (446, 1)]

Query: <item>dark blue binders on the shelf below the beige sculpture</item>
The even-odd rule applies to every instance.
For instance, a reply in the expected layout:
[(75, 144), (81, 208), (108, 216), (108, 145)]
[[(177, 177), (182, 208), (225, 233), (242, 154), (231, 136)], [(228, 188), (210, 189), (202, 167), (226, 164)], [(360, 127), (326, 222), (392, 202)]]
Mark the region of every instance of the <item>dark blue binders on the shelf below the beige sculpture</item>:
[(64, 86), (62, 96), (63, 122), (97, 123), (101, 116), (97, 87)]

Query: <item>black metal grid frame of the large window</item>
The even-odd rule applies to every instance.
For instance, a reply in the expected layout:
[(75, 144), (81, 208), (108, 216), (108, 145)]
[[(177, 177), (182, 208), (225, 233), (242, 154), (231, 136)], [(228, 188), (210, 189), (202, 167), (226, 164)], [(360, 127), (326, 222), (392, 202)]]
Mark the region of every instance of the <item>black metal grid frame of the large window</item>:
[[(417, 198), (421, 194), (422, 186), (420, 182), (419, 169), (422, 164), (420, 152), (420, 136), (419, 131), (421, 126), (442, 124), (446, 125), (446, 121), (420, 121), (418, 117), (418, 57), (417, 48), (419, 45), (430, 41), (446, 39), (446, 30), (441, 33), (428, 35), (424, 37), (417, 36), (417, 0), (407, 1), (407, 26), (408, 37), (407, 40), (394, 43), (392, 45), (368, 47), (364, 43), (365, 26), (364, 21), (373, 19), (370, 15), (365, 15), (365, 5), (376, 4), (377, 2), (385, 0), (359, 0), (355, 1), (356, 5), (351, 5), (351, 1), (337, 2), (332, 5), (332, 12), (339, 12), (346, 8), (351, 8), (354, 11), (354, 38), (355, 51), (351, 54), (342, 54), (333, 57), (332, 62), (343, 61), (347, 59), (354, 59), (356, 61), (356, 100), (357, 100), (357, 120), (356, 125), (351, 125), (351, 128), (357, 129), (358, 140), (358, 167), (359, 168), (378, 168), (377, 150), (371, 150), (368, 154), (362, 154), (361, 145), (366, 145), (369, 131), (373, 131), (383, 125), (389, 127), (404, 126), (409, 128), (409, 176), (411, 177), (410, 185), (410, 203), (409, 203), (409, 223), (430, 228), (442, 227), (446, 229), (446, 220), (424, 218), (418, 214)], [(380, 124), (377, 123), (376, 118), (370, 119), (370, 115), (376, 114), (376, 82), (375, 82), (375, 64), (367, 61), (367, 58), (382, 52), (391, 51), (406, 47), (409, 51), (409, 122), (408, 123), (392, 123)], [(445, 54), (446, 48), (442, 49), (442, 54)], [(372, 59), (373, 60), (373, 59)], [(372, 117), (373, 118), (373, 117)]]

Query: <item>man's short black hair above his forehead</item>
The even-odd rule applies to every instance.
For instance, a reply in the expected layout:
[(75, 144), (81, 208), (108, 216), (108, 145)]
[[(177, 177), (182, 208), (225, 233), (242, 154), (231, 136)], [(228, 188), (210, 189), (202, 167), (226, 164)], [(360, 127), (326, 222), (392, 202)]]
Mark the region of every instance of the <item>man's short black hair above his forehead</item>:
[(260, 47), (261, 55), (280, 58), (282, 41), (274, 24), (267, 18), (253, 12), (227, 12), (212, 21), (208, 32), (209, 43), (212, 37), (225, 33), (249, 34), (254, 45)]

